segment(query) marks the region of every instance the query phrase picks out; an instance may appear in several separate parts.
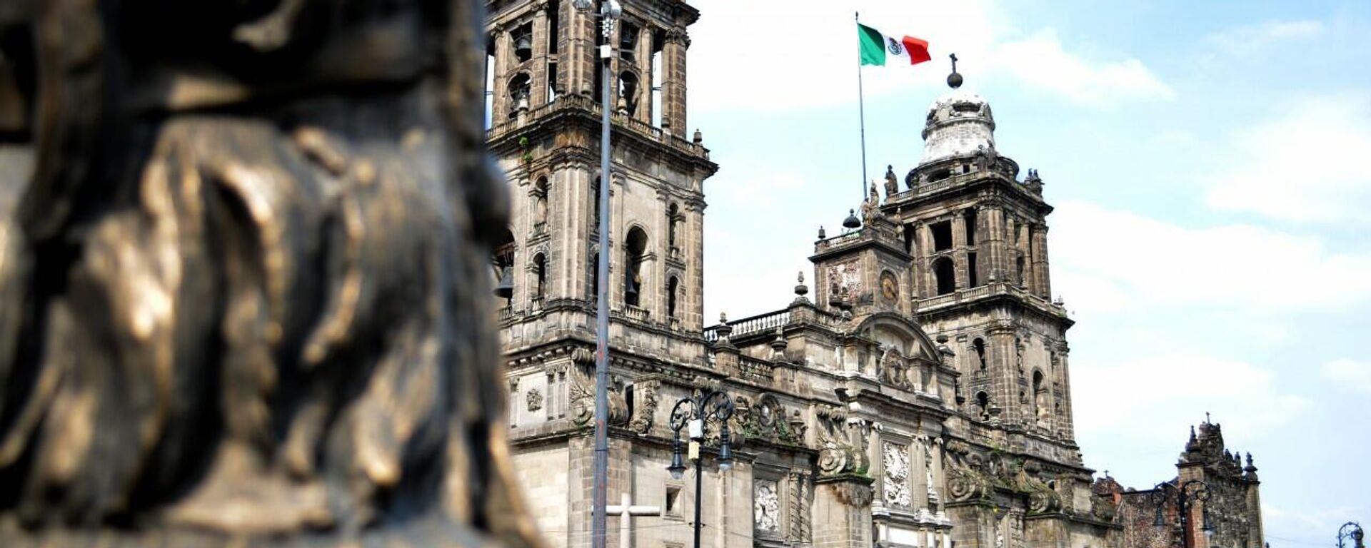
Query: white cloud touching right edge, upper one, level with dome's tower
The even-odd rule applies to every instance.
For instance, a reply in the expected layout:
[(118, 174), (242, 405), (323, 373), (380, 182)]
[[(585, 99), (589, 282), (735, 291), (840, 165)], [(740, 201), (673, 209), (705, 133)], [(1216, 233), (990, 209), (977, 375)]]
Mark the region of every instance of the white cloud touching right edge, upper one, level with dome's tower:
[(1219, 210), (1285, 221), (1364, 225), (1371, 207), (1371, 96), (1298, 100), (1276, 118), (1235, 132), (1223, 166), (1204, 177)]

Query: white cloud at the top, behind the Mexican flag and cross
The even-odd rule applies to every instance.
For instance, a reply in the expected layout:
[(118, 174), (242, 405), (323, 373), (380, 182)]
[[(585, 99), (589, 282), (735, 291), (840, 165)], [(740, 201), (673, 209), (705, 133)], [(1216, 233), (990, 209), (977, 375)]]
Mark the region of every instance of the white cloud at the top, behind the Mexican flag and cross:
[[(692, 110), (786, 110), (857, 99), (857, 33), (850, 4), (787, 0), (701, 0), (691, 27)], [(776, 14), (775, 26), (758, 26)], [(968, 88), (984, 79), (1061, 96), (1090, 107), (1174, 96), (1138, 59), (1090, 60), (1064, 47), (1052, 29), (1024, 37), (991, 0), (862, 3), (865, 25), (928, 40), (934, 60), (914, 68), (864, 73), (868, 99), (912, 89), (945, 89), (956, 52)], [(954, 23), (953, 23), (954, 22)], [(921, 107), (921, 105), (920, 105)]]

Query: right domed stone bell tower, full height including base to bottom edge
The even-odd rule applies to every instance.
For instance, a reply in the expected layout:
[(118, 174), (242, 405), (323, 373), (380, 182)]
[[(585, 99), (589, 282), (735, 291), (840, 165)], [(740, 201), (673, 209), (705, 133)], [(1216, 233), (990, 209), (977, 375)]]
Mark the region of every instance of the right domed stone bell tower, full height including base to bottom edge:
[(1052, 206), (1038, 173), (1021, 177), (999, 153), (990, 104), (961, 89), (956, 58), (947, 84), (924, 118), (923, 158), (903, 190), (887, 182), (882, 211), (901, 226), (913, 264), (914, 318), (947, 341), (961, 373), (958, 412), (947, 422), (967, 440), (954, 475), (1012, 485), (975, 496), (954, 489), (953, 537), (967, 547), (1098, 538), (1108, 526), (1076, 503), (1089, 500), (1090, 470), (1072, 429), (1072, 321), (1052, 299)]

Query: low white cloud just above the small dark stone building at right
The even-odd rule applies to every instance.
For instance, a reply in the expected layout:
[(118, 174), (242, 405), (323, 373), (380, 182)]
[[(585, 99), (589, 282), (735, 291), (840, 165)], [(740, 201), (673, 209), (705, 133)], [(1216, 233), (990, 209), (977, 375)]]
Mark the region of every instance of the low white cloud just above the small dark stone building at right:
[(1071, 375), (1082, 438), (1109, 440), (1127, 432), (1137, 447), (1180, 451), (1176, 427), (1197, 422), (1202, 412), (1233, 423), (1226, 429), (1230, 437), (1250, 441), (1309, 408), (1304, 397), (1281, 392), (1271, 370), (1198, 352), (1078, 360)]

